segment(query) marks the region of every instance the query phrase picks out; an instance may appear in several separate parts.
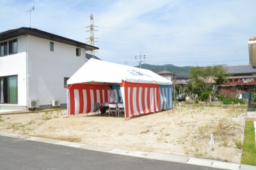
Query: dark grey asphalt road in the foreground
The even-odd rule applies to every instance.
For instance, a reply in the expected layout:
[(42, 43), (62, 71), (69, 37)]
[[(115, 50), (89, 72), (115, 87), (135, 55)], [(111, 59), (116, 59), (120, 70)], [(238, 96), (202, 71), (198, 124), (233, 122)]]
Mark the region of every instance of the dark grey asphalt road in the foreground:
[(0, 136), (0, 169), (217, 170), (212, 167), (95, 152), (4, 136)]

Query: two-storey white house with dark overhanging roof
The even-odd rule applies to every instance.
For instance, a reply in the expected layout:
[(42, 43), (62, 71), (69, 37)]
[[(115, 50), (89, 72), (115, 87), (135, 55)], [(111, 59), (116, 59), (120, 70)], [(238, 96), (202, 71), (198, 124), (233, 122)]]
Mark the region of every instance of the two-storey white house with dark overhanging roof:
[(66, 81), (97, 49), (28, 27), (1, 32), (0, 109), (67, 106)]

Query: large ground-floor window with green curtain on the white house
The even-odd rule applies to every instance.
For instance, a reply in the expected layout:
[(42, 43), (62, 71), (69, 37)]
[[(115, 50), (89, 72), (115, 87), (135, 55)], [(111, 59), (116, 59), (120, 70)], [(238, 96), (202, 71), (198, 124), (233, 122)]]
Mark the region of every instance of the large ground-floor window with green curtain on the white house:
[(18, 76), (0, 77), (0, 104), (18, 103)]

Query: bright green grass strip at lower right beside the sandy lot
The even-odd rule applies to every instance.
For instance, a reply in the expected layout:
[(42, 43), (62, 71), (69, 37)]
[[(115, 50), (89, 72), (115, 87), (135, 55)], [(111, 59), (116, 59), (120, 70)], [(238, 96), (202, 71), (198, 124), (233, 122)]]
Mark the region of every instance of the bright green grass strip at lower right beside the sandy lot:
[(255, 132), (252, 121), (246, 121), (244, 126), (244, 143), (242, 153), (242, 164), (256, 166)]

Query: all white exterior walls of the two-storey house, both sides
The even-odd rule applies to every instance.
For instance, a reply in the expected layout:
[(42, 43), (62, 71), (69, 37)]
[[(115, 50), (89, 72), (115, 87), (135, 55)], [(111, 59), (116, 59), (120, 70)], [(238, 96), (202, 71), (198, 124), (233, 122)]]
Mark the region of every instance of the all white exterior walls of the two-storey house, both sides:
[[(38, 99), (40, 108), (51, 107), (53, 99), (67, 104), (64, 78), (70, 78), (83, 66), (85, 49), (81, 48), (77, 57), (77, 46), (30, 35), (19, 36), (17, 40), (18, 53), (0, 57), (0, 77), (18, 76), (18, 103), (0, 104), (0, 109), (26, 110), (31, 99)], [(50, 42), (54, 43), (54, 52), (50, 51)]]

